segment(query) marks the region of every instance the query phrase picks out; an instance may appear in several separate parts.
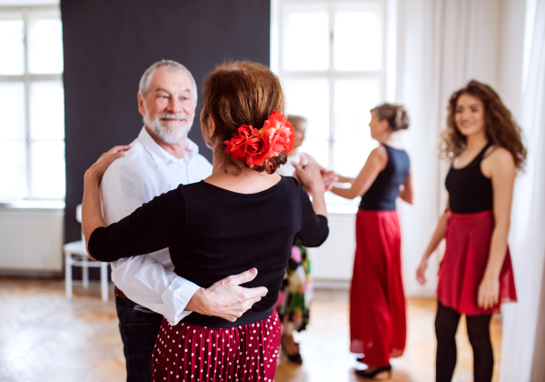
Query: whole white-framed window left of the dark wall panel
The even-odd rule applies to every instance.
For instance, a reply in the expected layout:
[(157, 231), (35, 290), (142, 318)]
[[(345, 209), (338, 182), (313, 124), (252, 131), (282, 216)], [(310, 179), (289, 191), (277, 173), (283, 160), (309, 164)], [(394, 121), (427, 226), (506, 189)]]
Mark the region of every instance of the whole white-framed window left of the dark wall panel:
[(0, 199), (63, 199), (58, 7), (0, 8)]

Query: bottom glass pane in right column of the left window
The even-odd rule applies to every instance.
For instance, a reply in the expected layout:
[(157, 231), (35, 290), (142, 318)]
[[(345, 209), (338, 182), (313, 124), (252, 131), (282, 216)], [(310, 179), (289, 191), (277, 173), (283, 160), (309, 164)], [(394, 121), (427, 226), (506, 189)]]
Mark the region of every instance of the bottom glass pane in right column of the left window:
[(64, 142), (34, 142), (32, 144), (32, 196), (64, 197)]

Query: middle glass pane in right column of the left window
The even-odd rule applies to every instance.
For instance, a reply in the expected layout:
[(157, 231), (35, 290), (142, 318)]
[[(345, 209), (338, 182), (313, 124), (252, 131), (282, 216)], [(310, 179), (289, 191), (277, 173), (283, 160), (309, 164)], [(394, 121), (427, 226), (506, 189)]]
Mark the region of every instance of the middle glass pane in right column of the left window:
[(61, 82), (35, 82), (30, 91), (32, 139), (64, 139), (64, 88)]

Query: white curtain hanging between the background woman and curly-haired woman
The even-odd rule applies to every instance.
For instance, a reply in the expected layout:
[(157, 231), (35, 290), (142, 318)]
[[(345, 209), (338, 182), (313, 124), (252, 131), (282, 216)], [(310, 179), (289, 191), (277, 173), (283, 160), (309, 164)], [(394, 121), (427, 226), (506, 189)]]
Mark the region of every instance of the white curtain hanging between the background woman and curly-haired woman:
[(403, 143), (416, 185), (414, 206), (400, 211), (408, 296), (435, 296), (438, 256), (431, 257), (427, 286), (416, 283), (414, 272), (446, 203), (440, 133), (453, 91), (471, 79), (498, 86), (500, 5), (497, 0), (397, 2), (396, 101), (411, 118)]

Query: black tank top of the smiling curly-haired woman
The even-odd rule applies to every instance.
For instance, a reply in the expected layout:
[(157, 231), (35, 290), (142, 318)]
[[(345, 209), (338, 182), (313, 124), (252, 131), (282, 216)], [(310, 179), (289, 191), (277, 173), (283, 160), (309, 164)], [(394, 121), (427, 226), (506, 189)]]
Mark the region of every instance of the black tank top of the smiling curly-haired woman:
[(489, 147), (490, 144), (485, 146), (468, 166), (454, 168), (451, 165), (445, 186), (452, 212), (471, 214), (492, 209), (492, 181), (481, 172), (481, 162)]

